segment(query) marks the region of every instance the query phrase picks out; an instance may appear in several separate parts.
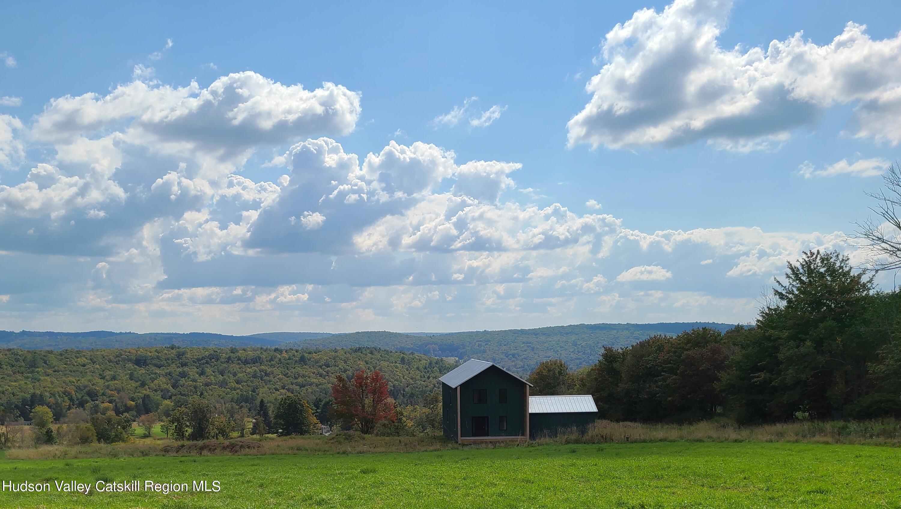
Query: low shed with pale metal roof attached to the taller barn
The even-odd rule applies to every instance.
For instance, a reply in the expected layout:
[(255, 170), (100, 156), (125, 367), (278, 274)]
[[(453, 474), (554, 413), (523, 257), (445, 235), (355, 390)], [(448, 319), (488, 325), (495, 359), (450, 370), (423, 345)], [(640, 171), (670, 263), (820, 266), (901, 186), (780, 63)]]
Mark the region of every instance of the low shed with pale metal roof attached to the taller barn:
[(529, 438), (554, 436), (571, 428), (585, 432), (596, 417), (597, 406), (590, 395), (533, 395), (529, 398)]

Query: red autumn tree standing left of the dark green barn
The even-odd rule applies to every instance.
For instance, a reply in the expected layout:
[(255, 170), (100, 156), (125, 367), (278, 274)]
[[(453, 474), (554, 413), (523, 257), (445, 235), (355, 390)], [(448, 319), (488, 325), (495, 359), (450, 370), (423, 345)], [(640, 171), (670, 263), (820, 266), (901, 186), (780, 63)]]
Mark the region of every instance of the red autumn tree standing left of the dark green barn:
[(332, 397), (332, 415), (345, 426), (356, 426), (361, 433), (375, 431), (379, 421), (396, 419), (387, 381), (378, 369), (372, 373), (360, 369), (350, 381), (337, 375)]

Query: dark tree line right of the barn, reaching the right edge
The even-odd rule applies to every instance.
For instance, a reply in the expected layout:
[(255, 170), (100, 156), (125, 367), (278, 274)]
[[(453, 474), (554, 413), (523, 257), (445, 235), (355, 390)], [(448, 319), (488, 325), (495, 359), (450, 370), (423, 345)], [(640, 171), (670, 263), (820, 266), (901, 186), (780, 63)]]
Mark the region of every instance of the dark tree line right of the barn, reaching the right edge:
[(615, 421), (901, 416), (901, 292), (835, 251), (805, 252), (775, 283), (751, 325), (608, 347), (576, 372), (545, 361), (532, 394), (591, 394)]

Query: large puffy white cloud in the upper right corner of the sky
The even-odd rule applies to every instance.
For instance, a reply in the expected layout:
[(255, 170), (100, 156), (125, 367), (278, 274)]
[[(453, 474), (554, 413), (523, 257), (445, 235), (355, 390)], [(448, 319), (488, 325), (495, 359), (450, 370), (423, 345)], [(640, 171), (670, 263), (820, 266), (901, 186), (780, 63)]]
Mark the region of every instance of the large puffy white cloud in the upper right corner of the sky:
[(823, 46), (798, 32), (766, 48), (723, 48), (730, 0), (676, 0), (607, 32), (591, 101), (569, 145), (636, 148), (713, 142), (757, 150), (832, 105), (853, 105), (853, 136), (901, 141), (901, 34), (873, 40), (848, 23)]

